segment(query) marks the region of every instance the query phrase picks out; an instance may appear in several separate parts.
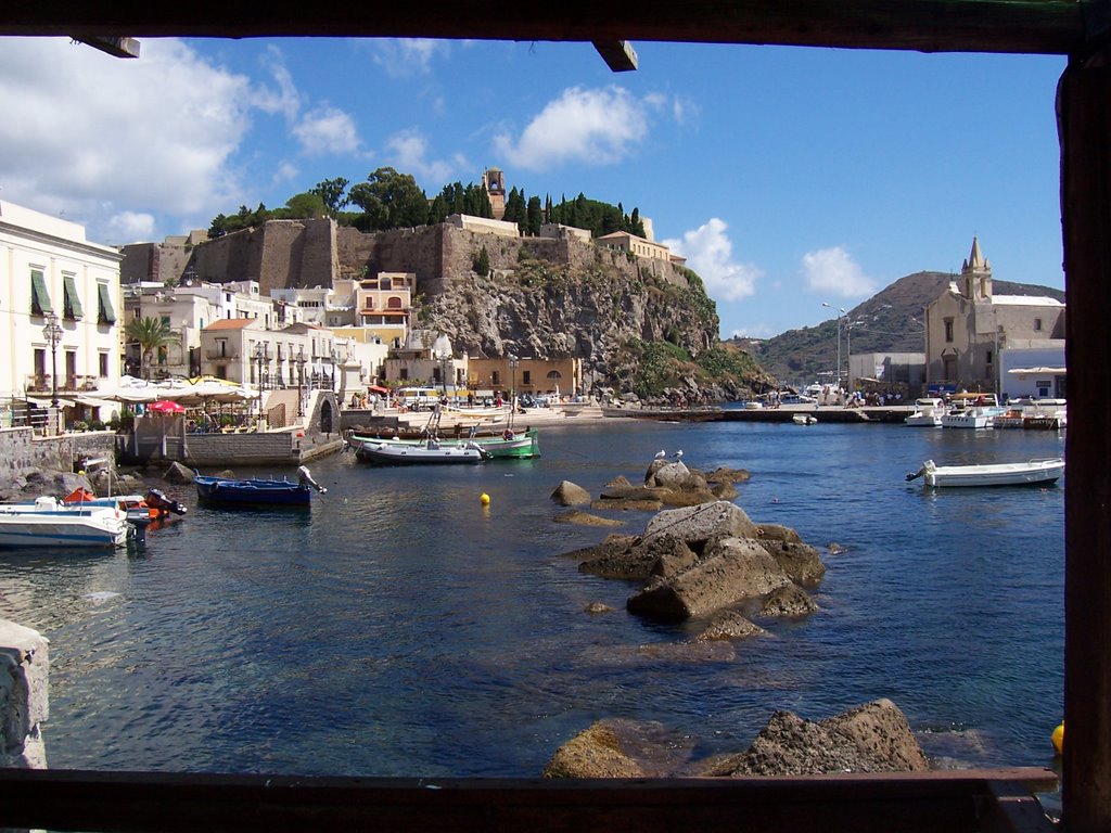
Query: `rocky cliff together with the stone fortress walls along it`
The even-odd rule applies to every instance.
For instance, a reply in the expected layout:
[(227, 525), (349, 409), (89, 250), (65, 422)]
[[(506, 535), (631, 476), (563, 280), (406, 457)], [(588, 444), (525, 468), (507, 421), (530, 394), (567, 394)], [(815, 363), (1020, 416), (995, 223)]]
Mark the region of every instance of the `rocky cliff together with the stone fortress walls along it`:
[[(483, 250), (489, 273), (479, 275)], [(509, 238), (448, 224), (368, 234), (320, 220), (271, 221), (198, 247), (196, 261), (207, 280), (253, 278), (264, 294), (327, 285), (332, 274), (413, 272), (414, 325), (448, 334), (456, 350), (580, 358), (589, 378), (615, 387), (643, 363), (644, 344), (668, 345), (681, 363), (718, 343), (717, 309), (697, 274), (570, 237)]]

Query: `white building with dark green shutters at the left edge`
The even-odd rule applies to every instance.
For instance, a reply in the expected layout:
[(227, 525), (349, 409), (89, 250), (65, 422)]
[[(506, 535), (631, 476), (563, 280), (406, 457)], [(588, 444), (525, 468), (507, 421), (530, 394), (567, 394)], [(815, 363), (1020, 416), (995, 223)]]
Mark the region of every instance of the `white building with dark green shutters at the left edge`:
[(120, 259), (78, 223), (0, 201), (0, 397), (64, 407), (119, 384)]

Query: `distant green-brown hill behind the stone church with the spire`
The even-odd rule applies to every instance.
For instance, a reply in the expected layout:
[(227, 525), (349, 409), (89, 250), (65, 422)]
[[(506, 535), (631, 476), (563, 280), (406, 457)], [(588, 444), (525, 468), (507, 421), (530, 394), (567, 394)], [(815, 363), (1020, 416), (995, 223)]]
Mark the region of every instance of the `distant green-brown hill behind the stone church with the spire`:
[[(849, 310), (853, 322), (853, 353), (921, 353), (925, 350), (922, 325), (925, 307), (955, 280), (950, 272), (915, 272), (900, 278), (878, 294)], [(1047, 295), (1064, 301), (1064, 292), (1050, 287), (992, 281), (999, 295)], [(835, 310), (831, 310), (835, 312)], [(842, 323), (844, 319), (842, 319)], [(817, 327), (788, 330), (771, 339), (732, 339), (732, 343), (757, 360), (784, 384), (807, 384), (829, 374), (837, 364), (837, 317)], [(848, 340), (841, 333), (841, 367), (845, 367)], [(827, 375), (820, 377), (819, 373)]]

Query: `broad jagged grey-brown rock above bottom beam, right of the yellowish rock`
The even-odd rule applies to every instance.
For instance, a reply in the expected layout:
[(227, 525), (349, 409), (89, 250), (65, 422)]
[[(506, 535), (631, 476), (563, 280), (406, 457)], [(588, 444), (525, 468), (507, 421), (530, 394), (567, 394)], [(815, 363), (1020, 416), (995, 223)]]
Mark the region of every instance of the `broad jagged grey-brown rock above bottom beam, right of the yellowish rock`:
[(775, 712), (747, 752), (715, 761), (701, 774), (741, 777), (929, 769), (905, 715), (883, 699), (817, 723)]

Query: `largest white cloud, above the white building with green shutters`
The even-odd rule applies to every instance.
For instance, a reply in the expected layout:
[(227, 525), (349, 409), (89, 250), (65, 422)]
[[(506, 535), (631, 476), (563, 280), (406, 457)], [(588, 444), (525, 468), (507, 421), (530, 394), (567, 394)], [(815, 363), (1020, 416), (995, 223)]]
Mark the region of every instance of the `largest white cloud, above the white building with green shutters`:
[(4, 199), (64, 211), (106, 242), (148, 213), (211, 215), (237, 195), (229, 159), (251, 100), (246, 77), (178, 40), (146, 39), (142, 58), (124, 61), (66, 39), (4, 38)]

